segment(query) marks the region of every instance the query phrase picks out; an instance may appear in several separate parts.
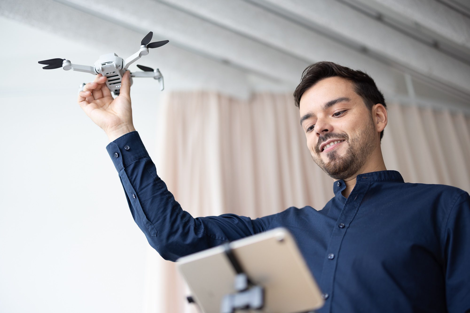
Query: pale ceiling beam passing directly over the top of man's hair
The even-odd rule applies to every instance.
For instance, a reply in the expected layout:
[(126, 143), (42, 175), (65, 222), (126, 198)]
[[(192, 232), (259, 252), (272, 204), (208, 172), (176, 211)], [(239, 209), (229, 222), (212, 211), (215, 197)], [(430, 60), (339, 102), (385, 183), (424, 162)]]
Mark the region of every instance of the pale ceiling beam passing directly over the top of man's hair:
[[(374, 78), (380, 89), (388, 93), (396, 91), (396, 77), (390, 66), (249, 2), (159, 1), (207, 19), (266, 46), (273, 46), (308, 63), (333, 61), (352, 69), (366, 71)], [(279, 74), (282, 75), (281, 72)]]

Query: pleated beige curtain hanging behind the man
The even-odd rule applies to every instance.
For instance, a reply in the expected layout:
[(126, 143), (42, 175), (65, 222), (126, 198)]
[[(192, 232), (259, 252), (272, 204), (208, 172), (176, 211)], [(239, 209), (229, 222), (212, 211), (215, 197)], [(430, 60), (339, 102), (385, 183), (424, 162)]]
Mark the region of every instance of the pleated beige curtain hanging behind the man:
[[(431, 108), (387, 105), (387, 169), (405, 182), (470, 191), (470, 118)], [(157, 173), (194, 217), (252, 218), (333, 197), (333, 180), (312, 160), (291, 94), (241, 101), (216, 92), (170, 92), (158, 117)], [(146, 312), (198, 312), (175, 263), (149, 248)]]

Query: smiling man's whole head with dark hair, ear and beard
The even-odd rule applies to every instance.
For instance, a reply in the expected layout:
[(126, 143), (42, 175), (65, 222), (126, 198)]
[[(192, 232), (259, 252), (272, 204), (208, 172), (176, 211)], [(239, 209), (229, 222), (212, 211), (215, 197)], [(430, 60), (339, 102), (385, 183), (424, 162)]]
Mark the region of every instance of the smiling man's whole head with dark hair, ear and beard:
[(333, 62), (317, 62), (304, 70), (294, 99), (307, 147), (329, 176), (346, 179), (370, 168), (367, 161), (378, 160), (376, 154), (381, 159), (387, 112), (384, 96), (370, 76)]

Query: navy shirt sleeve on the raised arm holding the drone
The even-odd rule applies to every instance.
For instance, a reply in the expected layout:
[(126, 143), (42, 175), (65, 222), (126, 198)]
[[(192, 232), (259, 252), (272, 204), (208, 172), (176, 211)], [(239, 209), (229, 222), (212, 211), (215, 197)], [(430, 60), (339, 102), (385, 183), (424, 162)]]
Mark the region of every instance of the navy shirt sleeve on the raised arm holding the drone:
[(149, 244), (165, 259), (179, 257), (265, 231), (274, 215), (251, 219), (236, 214), (193, 218), (158, 177), (137, 131), (106, 146), (119, 173), (132, 217)]

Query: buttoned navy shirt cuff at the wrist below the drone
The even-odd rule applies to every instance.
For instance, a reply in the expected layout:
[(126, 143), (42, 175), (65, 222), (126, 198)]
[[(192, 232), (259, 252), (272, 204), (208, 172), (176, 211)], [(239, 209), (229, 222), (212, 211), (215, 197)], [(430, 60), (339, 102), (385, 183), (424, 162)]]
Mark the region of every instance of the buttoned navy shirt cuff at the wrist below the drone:
[(132, 161), (149, 155), (139, 133), (135, 130), (110, 142), (106, 146), (106, 150), (118, 172)]

